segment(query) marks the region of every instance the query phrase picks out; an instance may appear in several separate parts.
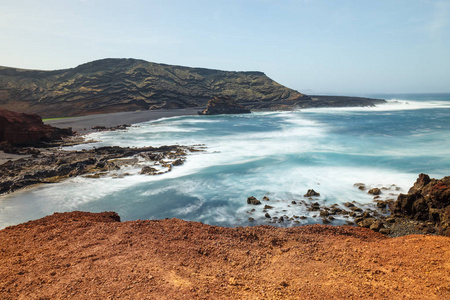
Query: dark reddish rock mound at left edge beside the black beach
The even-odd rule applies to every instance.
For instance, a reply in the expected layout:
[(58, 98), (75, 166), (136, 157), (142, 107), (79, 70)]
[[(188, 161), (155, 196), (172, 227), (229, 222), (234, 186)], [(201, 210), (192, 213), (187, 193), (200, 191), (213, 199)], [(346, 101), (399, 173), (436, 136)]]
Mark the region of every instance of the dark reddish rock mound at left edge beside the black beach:
[(35, 114), (17, 113), (0, 108), (0, 143), (13, 146), (36, 145), (71, 135), (72, 130), (45, 125)]

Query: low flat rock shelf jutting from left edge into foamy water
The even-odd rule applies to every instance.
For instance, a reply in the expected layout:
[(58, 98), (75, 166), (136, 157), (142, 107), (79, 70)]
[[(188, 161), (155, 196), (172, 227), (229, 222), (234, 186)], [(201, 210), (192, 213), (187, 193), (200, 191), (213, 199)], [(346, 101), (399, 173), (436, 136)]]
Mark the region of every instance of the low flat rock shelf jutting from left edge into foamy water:
[(37, 151), (33, 153), (33, 157), (8, 161), (0, 165), (0, 195), (30, 185), (55, 183), (84, 174), (89, 178), (132, 175), (129, 172), (120, 172), (122, 166), (142, 167), (140, 174), (159, 175), (170, 172), (173, 166), (182, 164), (185, 155), (191, 150), (193, 148), (184, 146), (143, 148), (114, 146), (84, 151), (52, 151), (52, 149), (45, 152)]

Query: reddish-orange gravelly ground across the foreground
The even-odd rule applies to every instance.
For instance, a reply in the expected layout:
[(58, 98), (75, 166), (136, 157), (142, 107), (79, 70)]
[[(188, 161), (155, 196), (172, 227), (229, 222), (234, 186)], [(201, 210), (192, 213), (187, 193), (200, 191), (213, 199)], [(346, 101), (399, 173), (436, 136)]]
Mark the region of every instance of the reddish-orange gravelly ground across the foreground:
[(0, 231), (1, 299), (450, 299), (450, 238), (54, 214)]

